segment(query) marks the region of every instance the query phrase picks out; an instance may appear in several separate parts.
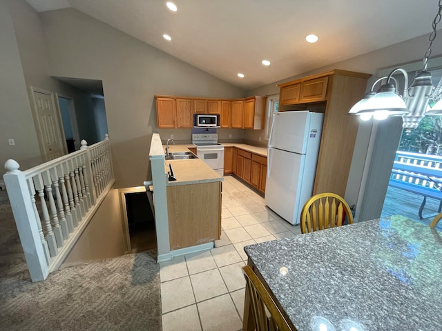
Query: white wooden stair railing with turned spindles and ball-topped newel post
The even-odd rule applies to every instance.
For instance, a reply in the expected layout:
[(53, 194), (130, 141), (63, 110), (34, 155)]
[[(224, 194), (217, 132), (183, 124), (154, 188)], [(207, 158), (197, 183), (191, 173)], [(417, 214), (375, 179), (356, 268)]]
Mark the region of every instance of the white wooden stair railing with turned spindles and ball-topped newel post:
[(3, 175), (32, 281), (57, 270), (115, 182), (106, 139), (29, 170)]

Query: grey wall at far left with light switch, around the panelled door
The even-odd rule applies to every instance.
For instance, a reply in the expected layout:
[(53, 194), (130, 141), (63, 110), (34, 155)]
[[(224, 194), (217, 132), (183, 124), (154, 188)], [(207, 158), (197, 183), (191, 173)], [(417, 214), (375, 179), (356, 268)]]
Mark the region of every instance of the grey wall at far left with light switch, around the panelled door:
[[(21, 165), (21, 170), (25, 170), (41, 163), (42, 153), (39, 150), (32, 117), (33, 103), (30, 101), (32, 100), (30, 87), (72, 97), (77, 112), (80, 114), (90, 113), (90, 117), (93, 118), (92, 102), (89, 94), (49, 76), (45, 38), (39, 14), (23, 0), (1, 0), (1, 6), (0, 11), (4, 16), (1, 23), (5, 24), (0, 32), (2, 35), (1, 52), (5, 52), (5, 55), (1, 56), (0, 66), (5, 68), (1, 70), (2, 88), (0, 93), (5, 92), (7, 95), (0, 98), (2, 109), (0, 161), (3, 164), (3, 160), (15, 159)], [(7, 55), (6, 52), (9, 54)], [(12, 54), (13, 52), (15, 53)], [(20, 86), (14, 85), (18, 79), (23, 81)], [(11, 88), (12, 92), (3, 89), (3, 86)], [(22, 97), (17, 97), (18, 94), (21, 94)], [(9, 105), (8, 99), (10, 100)], [(84, 123), (89, 122), (90, 120), (86, 116)], [(87, 134), (83, 134), (83, 136), (82, 139), (88, 140)], [(8, 138), (15, 139), (15, 147), (6, 145)]]

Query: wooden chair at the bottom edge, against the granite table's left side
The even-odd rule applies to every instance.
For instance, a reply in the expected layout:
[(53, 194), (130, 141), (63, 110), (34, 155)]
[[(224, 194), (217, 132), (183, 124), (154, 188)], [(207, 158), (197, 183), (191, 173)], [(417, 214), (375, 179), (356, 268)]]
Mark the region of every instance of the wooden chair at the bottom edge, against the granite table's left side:
[(289, 323), (282, 316), (275, 301), (273, 301), (255, 272), (249, 265), (242, 267), (242, 272), (246, 279), (246, 291), (249, 294), (256, 331), (290, 331)]

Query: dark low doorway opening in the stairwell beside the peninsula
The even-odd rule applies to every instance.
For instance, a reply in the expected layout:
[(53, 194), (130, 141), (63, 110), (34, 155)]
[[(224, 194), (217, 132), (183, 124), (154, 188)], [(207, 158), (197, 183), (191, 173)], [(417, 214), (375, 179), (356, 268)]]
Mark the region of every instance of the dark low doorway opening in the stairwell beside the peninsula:
[(155, 219), (146, 192), (124, 194), (132, 252), (157, 248)]

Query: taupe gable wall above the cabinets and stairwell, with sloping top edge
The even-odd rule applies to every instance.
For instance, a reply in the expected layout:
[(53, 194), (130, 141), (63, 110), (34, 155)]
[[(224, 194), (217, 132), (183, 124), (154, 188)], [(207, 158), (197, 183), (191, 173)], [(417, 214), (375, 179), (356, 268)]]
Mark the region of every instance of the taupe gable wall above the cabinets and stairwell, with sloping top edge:
[(244, 91), (74, 9), (41, 13), (50, 74), (101, 79), (116, 187), (142, 185), (155, 94), (244, 97)]

